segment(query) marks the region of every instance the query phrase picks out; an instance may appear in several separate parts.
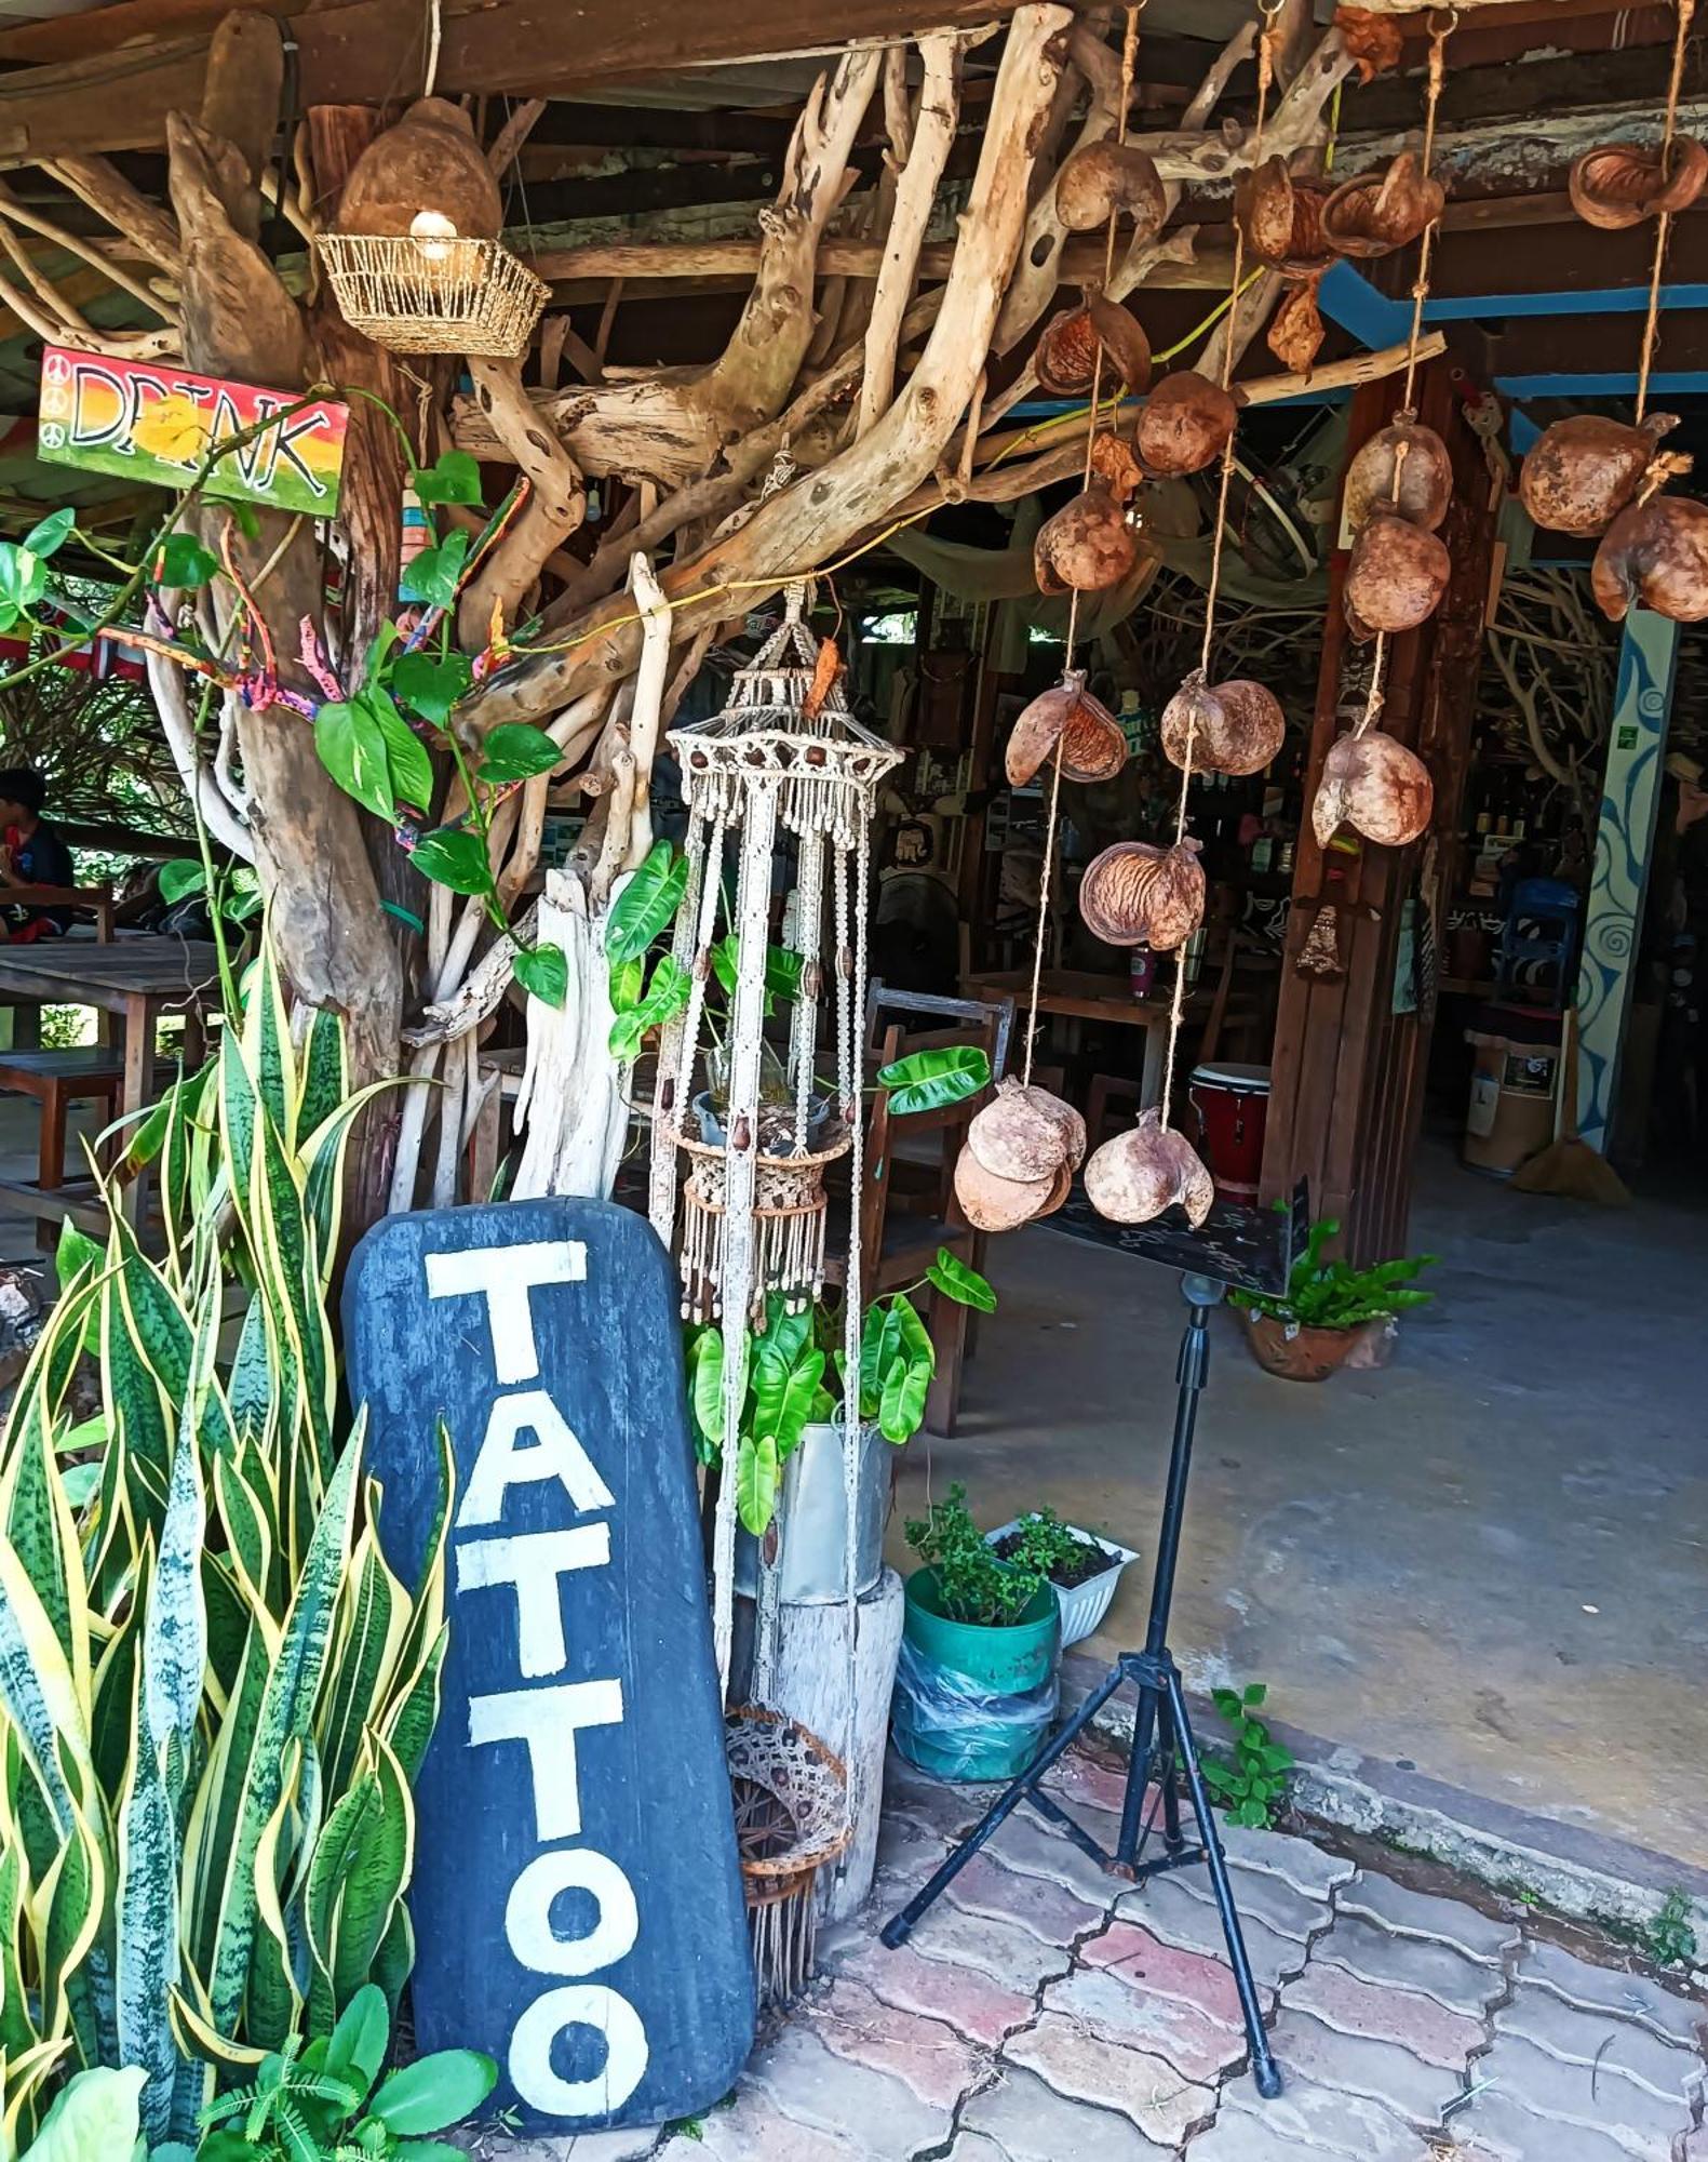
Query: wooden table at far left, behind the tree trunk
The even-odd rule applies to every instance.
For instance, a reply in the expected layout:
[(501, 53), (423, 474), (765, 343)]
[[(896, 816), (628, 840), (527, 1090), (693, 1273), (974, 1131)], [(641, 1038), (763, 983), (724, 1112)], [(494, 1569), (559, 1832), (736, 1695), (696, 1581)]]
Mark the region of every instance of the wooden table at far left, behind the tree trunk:
[[(93, 1005), (123, 1020), (125, 1077), (119, 1116), (141, 1111), (154, 1096), (156, 1036), (164, 1014), (184, 1014), (184, 1062), (203, 1057), (203, 999), (218, 992), (218, 956), (212, 945), (190, 938), (119, 938), (99, 945), (86, 938), (50, 938), (39, 945), (0, 943), (0, 1001), (17, 1005)], [(123, 1209), (132, 1224), (143, 1219), (145, 1180), (132, 1178)], [(0, 1180), (0, 1193), (35, 1187)]]

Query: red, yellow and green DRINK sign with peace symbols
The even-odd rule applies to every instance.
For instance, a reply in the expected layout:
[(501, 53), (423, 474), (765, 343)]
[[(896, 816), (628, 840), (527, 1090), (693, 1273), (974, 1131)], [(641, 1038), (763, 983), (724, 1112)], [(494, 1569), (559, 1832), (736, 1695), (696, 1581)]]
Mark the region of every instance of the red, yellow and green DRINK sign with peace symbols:
[[(288, 417), (266, 426), (275, 415)], [(221, 443), (233, 443), (205, 476), (208, 495), (329, 519), (348, 422), (348, 406), (331, 398), (305, 404), (290, 391), (69, 346), (41, 355), (37, 450), (50, 465), (186, 489)]]

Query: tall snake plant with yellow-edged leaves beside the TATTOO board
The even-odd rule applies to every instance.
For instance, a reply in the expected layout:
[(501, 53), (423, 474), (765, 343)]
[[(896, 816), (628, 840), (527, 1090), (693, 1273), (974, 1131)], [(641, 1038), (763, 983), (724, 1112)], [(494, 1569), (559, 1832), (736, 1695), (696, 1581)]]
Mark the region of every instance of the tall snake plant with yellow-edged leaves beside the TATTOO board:
[[(292, 1044), (264, 953), (242, 1025), (134, 1144), (164, 1256), (117, 1193), (104, 1247), (65, 1241), (0, 1440), (4, 2156), (102, 2065), (147, 2073), (149, 2145), (186, 2140), (216, 2073), (409, 1974), (443, 1552), (415, 1587), (391, 1574), (337, 1401), (326, 1293), (368, 1094), (337, 1018)], [(76, 1427), (84, 1349), (104, 1410)]]

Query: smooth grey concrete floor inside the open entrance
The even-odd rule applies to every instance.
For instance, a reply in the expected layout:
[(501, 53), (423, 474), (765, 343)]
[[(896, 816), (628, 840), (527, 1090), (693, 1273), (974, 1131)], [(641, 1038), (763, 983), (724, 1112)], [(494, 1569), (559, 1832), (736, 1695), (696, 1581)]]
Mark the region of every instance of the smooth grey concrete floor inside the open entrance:
[[(1176, 1591), (1193, 1689), (1477, 1797), (1708, 1864), (1708, 1202), (1604, 1213), (1425, 1159), (1438, 1304), (1395, 1362), (1278, 1382), (1215, 1317)], [(962, 1429), (921, 1436), (899, 1518), (962, 1479), (1142, 1550), (1087, 1650), (1144, 1637), (1174, 1407), (1176, 1280), (1033, 1228)]]

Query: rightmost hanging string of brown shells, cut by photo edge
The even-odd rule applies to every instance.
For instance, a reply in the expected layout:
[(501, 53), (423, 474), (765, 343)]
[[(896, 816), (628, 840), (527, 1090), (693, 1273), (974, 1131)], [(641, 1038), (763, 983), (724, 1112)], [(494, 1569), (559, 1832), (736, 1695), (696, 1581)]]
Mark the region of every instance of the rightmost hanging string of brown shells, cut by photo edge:
[(1518, 493), (1537, 525), (1602, 536), (1589, 584), (1596, 605), (1613, 623), (1622, 623), (1632, 603), (1671, 616), (1673, 623), (1702, 623), (1708, 616), (1708, 504), (1660, 493), (1669, 480), (1689, 473), (1691, 458), (1658, 448), (1660, 437), (1678, 426), (1678, 415), (1647, 411), (1671, 221), (1708, 186), (1708, 149), (1678, 134), (1678, 95), (1693, 17), (1695, 0), (1678, 0), (1658, 147), (1602, 143), (1578, 158), (1570, 179), (1572, 208), (1587, 225), (1624, 231), (1654, 218), (1634, 422), (1604, 413), (1557, 419), (1531, 445), (1518, 476)]

